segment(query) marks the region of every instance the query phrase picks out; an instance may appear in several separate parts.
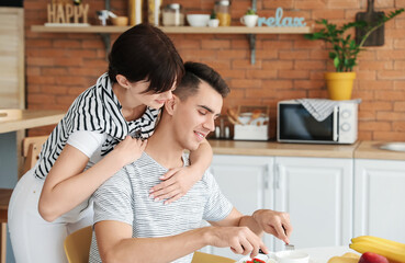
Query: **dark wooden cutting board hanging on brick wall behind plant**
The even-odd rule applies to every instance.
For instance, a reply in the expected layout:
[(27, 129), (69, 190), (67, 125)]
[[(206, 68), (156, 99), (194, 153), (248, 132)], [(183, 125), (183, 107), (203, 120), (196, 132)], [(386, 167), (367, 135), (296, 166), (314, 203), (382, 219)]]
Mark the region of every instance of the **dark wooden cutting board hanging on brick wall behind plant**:
[[(384, 16), (384, 12), (374, 11), (374, 0), (368, 0), (367, 12), (359, 12), (356, 14), (356, 21), (365, 21), (369, 25), (376, 24), (381, 18)], [(362, 36), (365, 34), (363, 30), (356, 28), (356, 43), (361, 42)], [(383, 46), (384, 45), (384, 24), (376, 28), (364, 42), (363, 46)]]

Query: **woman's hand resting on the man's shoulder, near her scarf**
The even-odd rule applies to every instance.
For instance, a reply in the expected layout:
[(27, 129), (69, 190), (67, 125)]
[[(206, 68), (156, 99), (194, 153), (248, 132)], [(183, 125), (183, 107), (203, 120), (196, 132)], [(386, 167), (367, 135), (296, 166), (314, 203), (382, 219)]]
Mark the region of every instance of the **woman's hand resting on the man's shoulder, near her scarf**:
[(115, 158), (122, 162), (122, 167), (136, 161), (144, 152), (147, 140), (135, 139), (131, 136), (126, 136), (125, 139), (120, 141), (111, 152), (112, 155), (117, 155)]

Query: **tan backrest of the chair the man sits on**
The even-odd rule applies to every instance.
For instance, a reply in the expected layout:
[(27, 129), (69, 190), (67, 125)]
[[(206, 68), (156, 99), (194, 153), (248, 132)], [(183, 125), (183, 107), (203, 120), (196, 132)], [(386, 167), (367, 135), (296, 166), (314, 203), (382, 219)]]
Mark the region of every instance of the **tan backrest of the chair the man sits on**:
[(69, 263), (88, 263), (92, 228), (79, 229), (65, 239), (64, 248)]

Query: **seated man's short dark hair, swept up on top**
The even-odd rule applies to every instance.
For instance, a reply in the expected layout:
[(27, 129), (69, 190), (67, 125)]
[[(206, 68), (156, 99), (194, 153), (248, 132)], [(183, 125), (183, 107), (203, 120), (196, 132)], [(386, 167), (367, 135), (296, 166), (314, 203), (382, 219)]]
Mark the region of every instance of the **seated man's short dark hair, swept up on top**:
[(225, 80), (207, 65), (188, 61), (184, 64), (184, 69), (185, 73), (173, 91), (181, 101), (194, 95), (199, 91), (199, 85), (202, 81), (209, 83), (222, 98), (225, 98), (229, 93), (229, 88)]

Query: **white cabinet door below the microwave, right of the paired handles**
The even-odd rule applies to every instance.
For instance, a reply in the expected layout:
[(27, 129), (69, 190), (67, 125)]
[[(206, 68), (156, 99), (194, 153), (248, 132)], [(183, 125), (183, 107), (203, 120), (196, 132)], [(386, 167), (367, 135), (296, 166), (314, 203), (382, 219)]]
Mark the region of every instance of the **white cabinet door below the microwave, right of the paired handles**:
[(290, 213), (296, 249), (350, 242), (352, 159), (275, 157), (274, 169), (275, 210)]

